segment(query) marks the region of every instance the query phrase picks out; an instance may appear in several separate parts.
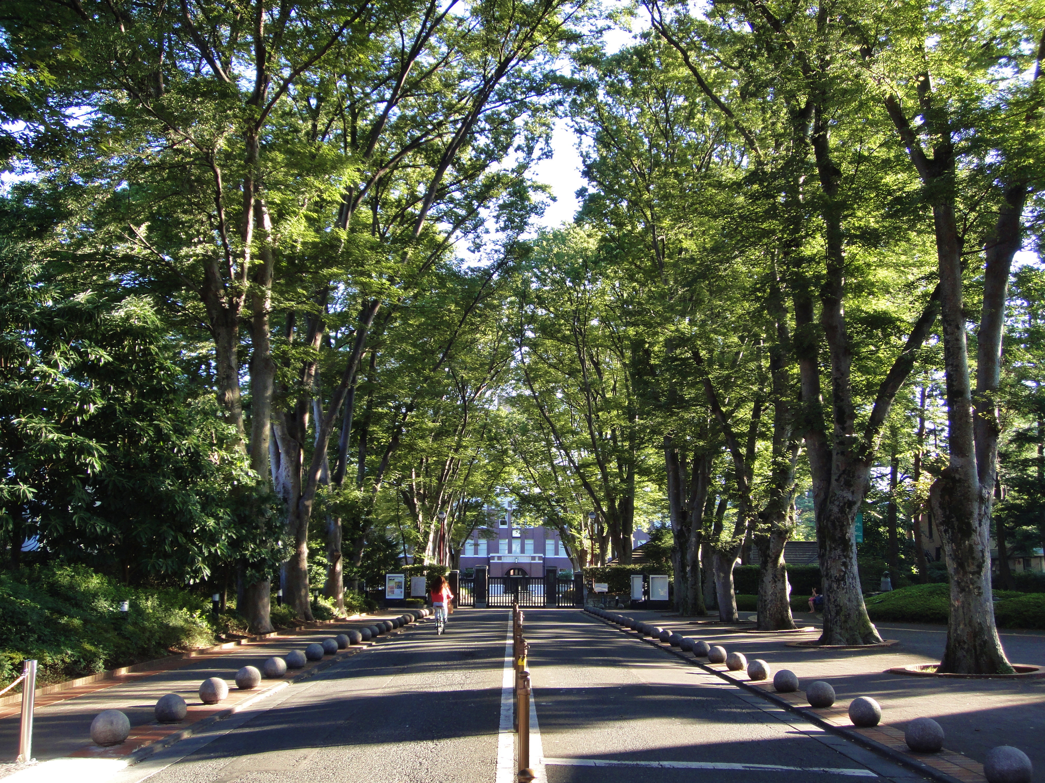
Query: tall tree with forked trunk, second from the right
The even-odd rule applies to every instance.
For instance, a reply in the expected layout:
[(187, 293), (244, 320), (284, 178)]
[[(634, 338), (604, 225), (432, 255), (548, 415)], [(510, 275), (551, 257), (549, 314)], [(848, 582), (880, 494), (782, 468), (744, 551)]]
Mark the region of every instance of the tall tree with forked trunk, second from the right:
[[(911, 212), (884, 214), (878, 207), (910, 177), (897, 175), (896, 156), (879, 151), (887, 128), (863, 119), (874, 100), (846, 39), (849, 14), (859, 9), (814, 4), (791, 13), (763, 2), (717, 7), (720, 17), (698, 20), (668, 17), (659, 3), (647, 4), (654, 29), (678, 50), (745, 145), (746, 165), (775, 182), (763, 192), (781, 205), (777, 264), (794, 319), (796, 426), (812, 474), (825, 579), (821, 643), (873, 643), (880, 636), (863, 606), (855, 519), (892, 401), (938, 311), (938, 294), (926, 290)], [(739, 82), (716, 70), (723, 58), (737, 64)], [(774, 104), (777, 110), (767, 112)], [(873, 215), (878, 227), (868, 230), (864, 221)], [(877, 250), (883, 242), (891, 253)], [(886, 279), (913, 296), (890, 301), (881, 288)], [(924, 303), (913, 312), (911, 299)], [(856, 333), (854, 324), (860, 325)], [(861, 351), (865, 340), (889, 345), (893, 360)]]

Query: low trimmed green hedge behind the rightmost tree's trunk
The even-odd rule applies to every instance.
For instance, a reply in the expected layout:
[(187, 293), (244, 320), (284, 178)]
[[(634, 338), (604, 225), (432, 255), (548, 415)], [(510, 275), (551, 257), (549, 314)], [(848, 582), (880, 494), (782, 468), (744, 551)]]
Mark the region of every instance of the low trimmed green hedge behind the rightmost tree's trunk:
[[(1045, 628), (1045, 595), (997, 590), (995, 620), (1000, 627)], [(872, 620), (946, 624), (950, 611), (950, 586), (936, 583), (913, 585), (867, 598)]]

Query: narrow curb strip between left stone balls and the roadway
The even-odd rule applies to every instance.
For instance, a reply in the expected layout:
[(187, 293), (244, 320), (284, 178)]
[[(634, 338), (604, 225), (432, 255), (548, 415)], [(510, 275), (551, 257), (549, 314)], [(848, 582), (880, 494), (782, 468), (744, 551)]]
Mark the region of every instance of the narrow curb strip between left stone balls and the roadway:
[[(425, 619), (427, 618), (421, 618), (419, 620), (416, 620), (415, 622), (423, 622)], [(331, 620), (330, 622), (334, 621)], [(344, 622), (344, 620), (342, 620), (342, 622)], [(152, 757), (159, 751), (162, 751), (165, 748), (169, 748), (176, 742), (180, 742), (181, 740), (187, 739), (188, 737), (191, 737), (194, 734), (199, 734), (201, 731), (210, 728), (218, 720), (231, 717), (232, 715), (241, 712), (248, 707), (257, 704), (261, 699), (274, 695), (275, 693), (283, 690), (284, 688), (300, 683), (303, 680), (307, 680), (314, 674), (323, 671), (324, 669), (327, 669), (353, 655), (357, 655), (359, 652), (364, 652), (370, 649), (381, 639), (388, 639), (391, 638), (392, 636), (398, 636), (399, 634), (404, 633), (409, 627), (413, 625), (414, 623), (411, 623), (411, 625), (404, 627), (393, 628), (389, 634), (379, 637), (377, 640), (362, 642), (359, 645), (357, 646), (353, 645), (346, 650), (343, 650), (334, 656), (331, 656), (330, 658), (325, 658), (321, 661), (316, 661), (314, 663), (310, 663), (305, 667), (303, 671), (295, 674), (294, 677), (280, 680), (278, 682), (274, 682), (269, 687), (258, 691), (257, 693), (254, 693), (248, 698), (245, 698), (243, 701), (235, 705), (227, 707), (224, 710), (207, 715), (206, 717), (202, 717), (199, 720), (194, 720), (188, 726), (185, 726), (183, 728), (179, 729), (177, 726), (165, 727), (163, 723), (157, 723), (157, 722), (143, 723), (139, 727), (135, 727), (135, 729), (132, 729), (132, 736), (127, 738), (126, 742), (134, 742), (135, 730), (138, 731), (138, 736), (141, 737), (142, 739), (145, 739), (145, 741), (139, 743), (133, 750), (129, 750), (125, 744), (113, 745), (110, 748), (99, 748), (98, 745), (90, 744), (90, 745), (85, 745), (79, 751), (76, 751), (75, 753), (71, 754), (71, 757), (95, 758), (95, 759), (123, 758), (126, 760), (127, 766), (133, 766), (134, 764), (138, 764), (144, 761), (145, 759)], [(165, 732), (164, 729), (169, 729), (169, 731)], [(150, 735), (155, 738), (146, 739)]]

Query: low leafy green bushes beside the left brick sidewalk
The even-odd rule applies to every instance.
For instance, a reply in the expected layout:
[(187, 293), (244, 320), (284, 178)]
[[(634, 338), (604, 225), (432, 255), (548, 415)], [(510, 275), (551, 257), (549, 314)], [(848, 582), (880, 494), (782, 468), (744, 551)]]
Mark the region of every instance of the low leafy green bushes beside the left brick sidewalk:
[(46, 684), (208, 647), (210, 622), (204, 596), (129, 587), (86, 566), (0, 573), (0, 684), (26, 659)]

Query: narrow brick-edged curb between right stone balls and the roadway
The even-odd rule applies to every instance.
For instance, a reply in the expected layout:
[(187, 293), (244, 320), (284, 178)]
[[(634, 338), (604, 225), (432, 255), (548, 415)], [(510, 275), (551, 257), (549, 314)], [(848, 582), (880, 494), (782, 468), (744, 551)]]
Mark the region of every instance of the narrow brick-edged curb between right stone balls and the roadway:
[[(711, 674), (715, 674), (720, 680), (724, 680), (732, 685), (736, 685), (739, 688), (742, 688), (743, 690), (746, 690), (749, 693), (758, 694), (763, 698), (772, 702), (777, 707), (782, 707), (788, 710), (789, 712), (792, 712), (796, 715), (800, 715), (806, 720), (809, 720), (811, 723), (818, 726), (825, 731), (829, 731), (832, 734), (844, 737), (845, 739), (851, 739), (854, 742), (870, 751), (874, 751), (880, 756), (884, 756), (890, 761), (901, 764), (902, 766), (905, 766), (908, 769), (912, 769), (919, 773), (920, 775), (925, 775), (928, 778), (940, 781), (940, 783), (986, 783), (986, 778), (982, 774), (982, 768), (983, 768), (982, 765), (972, 761), (972, 759), (966, 758), (961, 754), (944, 749), (943, 751), (932, 754), (931, 755), (932, 758), (927, 758), (926, 761), (922, 761), (920, 758), (912, 756), (906, 753), (905, 751), (896, 750), (895, 748), (890, 748), (889, 745), (883, 744), (875, 739), (872, 739), (870, 737), (862, 734), (861, 731), (856, 729), (855, 727), (845, 727), (833, 723), (830, 720), (822, 717), (821, 715), (814, 712), (813, 709), (810, 707), (802, 707), (797, 704), (789, 702), (788, 699), (784, 698), (781, 695), (777, 695), (776, 693), (768, 691), (757, 685), (752, 685), (743, 680), (738, 680), (735, 677), (730, 677), (730, 674), (727, 671), (722, 671), (713, 668), (712, 666), (702, 663), (696, 658), (687, 657), (686, 652), (683, 652), (680, 649), (675, 649), (670, 644), (660, 642), (659, 640), (655, 639), (647, 639), (645, 636), (637, 634), (631, 628), (619, 625), (618, 623), (612, 622), (611, 620), (608, 620), (604, 617), (599, 617), (599, 615), (589, 614), (587, 612), (584, 612), (584, 614), (588, 617), (591, 617), (593, 619), (601, 620), (603, 623), (609, 625), (610, 627), (618, 628), (619, 631), (621, 631), (621, 633), (625, 634), (626, 636), (633, 635), (640, 641), (644, 641), (650, 644), (651, 646), (656, 647), (657, 649), (670, 652), (679, 660), (686, 661), (689, 664), (697, 666), (698, 668), (701, 668)], [(903, 744), (903, 732), (901, 732), (899, 729), (888, 725), (880, 725), (876, 727), (876, 729), (878, 729), (883, 734), (889, 735), (890, 738), (895, 738), (891, 736), (893, 734), (898, 735), (900, 743)], [(929, 757), (930, 754), (925, 754), (925, 756)], [(951, 775), (945, 772), (944, 769), (936, 768), (930, 763), (927, 763), (928, 761), (939, 761), (950, 766), (955, 766), (957, 767), (958, 775), (960, 775), (961, 777), (955, 777), (954, 775)], [(956, 763), (957, 761), (963, 761), (965, 763), (958, 764)]]

